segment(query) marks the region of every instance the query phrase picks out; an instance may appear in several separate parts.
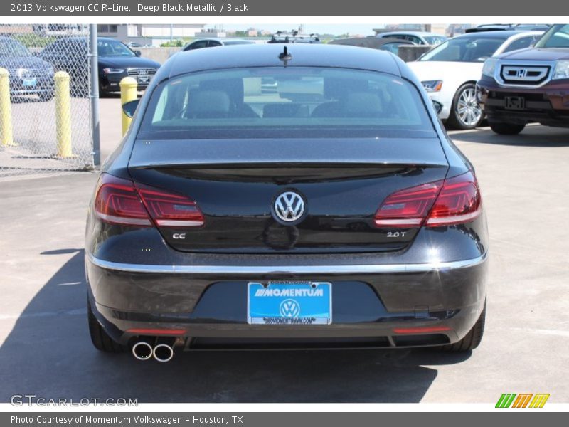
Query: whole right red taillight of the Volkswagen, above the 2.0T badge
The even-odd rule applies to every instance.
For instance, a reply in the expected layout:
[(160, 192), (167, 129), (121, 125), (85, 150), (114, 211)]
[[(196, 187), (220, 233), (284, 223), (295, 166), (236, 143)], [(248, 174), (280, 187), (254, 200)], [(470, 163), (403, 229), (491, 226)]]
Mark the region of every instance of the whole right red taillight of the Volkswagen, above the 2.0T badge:
[(374, 219), (383, 228), (451, 226), (474, 220), (481, 206), (476, 178), (467, 172), (390, 194)]

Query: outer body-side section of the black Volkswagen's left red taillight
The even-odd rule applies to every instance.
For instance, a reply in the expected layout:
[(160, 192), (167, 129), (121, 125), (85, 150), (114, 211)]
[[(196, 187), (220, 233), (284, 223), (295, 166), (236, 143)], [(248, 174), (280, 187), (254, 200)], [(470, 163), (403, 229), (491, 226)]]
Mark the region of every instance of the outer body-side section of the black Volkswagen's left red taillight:
[(106, 223), (151, 226), (132, 181), (109, 174), (101, 175), (95, 196), (95, 214)]

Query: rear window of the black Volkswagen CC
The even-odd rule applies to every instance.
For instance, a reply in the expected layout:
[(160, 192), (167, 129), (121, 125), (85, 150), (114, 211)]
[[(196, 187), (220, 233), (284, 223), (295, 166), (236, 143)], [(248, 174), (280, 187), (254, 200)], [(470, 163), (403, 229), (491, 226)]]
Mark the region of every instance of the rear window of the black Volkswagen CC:
[(418, 90), (393, 75), (338, 68), (210, 70), (152, 93), (141, 139), (432, 137)]

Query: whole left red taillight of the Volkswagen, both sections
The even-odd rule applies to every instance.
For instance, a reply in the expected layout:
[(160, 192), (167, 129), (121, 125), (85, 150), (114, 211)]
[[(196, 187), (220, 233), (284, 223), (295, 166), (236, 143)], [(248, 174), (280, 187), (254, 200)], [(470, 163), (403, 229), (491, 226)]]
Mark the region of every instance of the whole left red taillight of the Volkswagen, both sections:
[(107, 223), (128, 226), (151, 226), (150, 218), (161, 227), (203, 226), (203, 214), (187, 196), (135, 186), (129, 179), (110, 174), (101, 175), (95, 214)]

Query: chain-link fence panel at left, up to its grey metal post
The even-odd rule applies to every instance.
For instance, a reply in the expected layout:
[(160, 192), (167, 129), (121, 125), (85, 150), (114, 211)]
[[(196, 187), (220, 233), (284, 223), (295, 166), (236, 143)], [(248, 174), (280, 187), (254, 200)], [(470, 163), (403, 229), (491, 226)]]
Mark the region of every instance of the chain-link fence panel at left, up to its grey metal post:
[(0, 25), (0, 69), (9, 73), (0, 179), (93, 169), (89, 41), (84, 24)]

